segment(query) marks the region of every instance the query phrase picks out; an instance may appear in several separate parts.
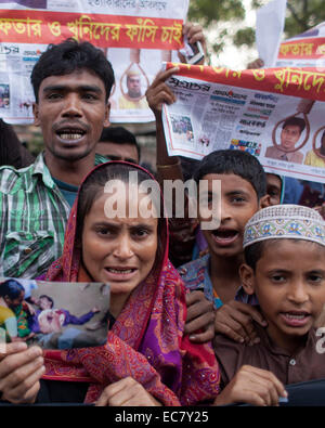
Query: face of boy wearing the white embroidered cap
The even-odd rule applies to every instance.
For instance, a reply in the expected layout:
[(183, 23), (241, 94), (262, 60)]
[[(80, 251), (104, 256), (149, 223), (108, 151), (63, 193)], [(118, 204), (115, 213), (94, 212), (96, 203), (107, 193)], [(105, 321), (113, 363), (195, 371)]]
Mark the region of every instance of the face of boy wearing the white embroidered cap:
[(270, 336), (281, 345), (304, 336), (323, 310), (325, 248), (296, 239), (265, 244), (256, 272), (244, 265), (240, 274), (246, 291), (257, 295)]

